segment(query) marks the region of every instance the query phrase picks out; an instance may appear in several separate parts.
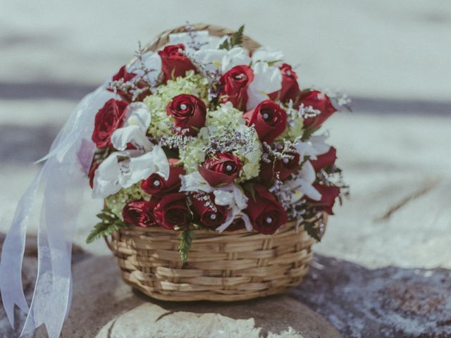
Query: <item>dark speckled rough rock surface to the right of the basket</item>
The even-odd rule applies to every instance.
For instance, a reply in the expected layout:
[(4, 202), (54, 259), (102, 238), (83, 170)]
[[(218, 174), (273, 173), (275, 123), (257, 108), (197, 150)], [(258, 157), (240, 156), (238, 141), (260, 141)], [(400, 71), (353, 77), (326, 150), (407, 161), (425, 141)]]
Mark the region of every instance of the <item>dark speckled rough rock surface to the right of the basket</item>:
[(290, 292), (343, 337), (451, 337), (451, 270), (368, 270), (316, 256), (311, 273)]

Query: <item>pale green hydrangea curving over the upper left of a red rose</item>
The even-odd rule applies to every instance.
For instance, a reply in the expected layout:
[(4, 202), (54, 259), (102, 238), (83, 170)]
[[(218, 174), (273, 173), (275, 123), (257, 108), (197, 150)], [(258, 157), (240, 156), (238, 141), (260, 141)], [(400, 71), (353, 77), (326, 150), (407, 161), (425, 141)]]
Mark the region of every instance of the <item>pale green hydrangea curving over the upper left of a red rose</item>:
[(152, 121), (149, 125), (149, 134), (154, 137), (171, 135), (171, 125), (173, 118), (166, 114), (166, 106), (179, 94), (191, 94), (198, 96), (205, 104), (208, 104), (208, 80), (202, 75), (194, 74), (189, 70), (185, 77), (177, 77), (175, 80), (168, 80), (161, 85), (155, 94), (144, 99), (144, 104), (149, 107)]

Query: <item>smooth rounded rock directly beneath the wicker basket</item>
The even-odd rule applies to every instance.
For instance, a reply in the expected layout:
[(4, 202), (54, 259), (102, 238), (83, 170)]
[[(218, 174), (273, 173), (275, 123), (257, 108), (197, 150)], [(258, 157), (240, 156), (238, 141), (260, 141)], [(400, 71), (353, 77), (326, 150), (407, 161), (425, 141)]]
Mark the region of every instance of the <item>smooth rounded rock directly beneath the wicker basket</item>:
[(234, 303), (163, 302), (132, 292), (111, 257), (75, 265), (62, 337), (340, 337), (288, 295)]

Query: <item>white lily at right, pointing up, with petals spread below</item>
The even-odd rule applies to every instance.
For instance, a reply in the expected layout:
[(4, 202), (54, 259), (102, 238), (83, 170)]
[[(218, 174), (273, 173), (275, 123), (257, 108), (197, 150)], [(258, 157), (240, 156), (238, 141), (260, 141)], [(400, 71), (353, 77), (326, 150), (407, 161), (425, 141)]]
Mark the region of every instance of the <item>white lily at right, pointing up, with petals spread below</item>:
[(291, 203), (299, 201), (299, 199), (301, 199), (304, 195), (314, 201), (320, 201), (321, 194), (313, 186), (315, 180), (316, 173), (313, 165), (307, 161), (304, 165), (302, 165), (299, 174), (295, 178), (284, 183), (285, 186), (293, 192)]

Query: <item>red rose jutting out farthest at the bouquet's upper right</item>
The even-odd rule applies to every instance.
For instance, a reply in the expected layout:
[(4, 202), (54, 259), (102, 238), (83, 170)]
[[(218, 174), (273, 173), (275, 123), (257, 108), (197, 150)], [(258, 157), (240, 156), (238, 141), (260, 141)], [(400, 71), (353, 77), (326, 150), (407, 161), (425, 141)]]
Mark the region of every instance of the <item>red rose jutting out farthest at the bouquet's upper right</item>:
[(317, 90), (302, 94), (299, 97), (299, 105), (300, 104), (304, 104), (306, 107), (311, 106), (314, 109), (321, 111), (319, 115), (304, 120), (304, 127), (312, 129), (319, 128), (330, 115), (337, 111), (332, 105), (332, 102), (330, 102), (328, 96)]

